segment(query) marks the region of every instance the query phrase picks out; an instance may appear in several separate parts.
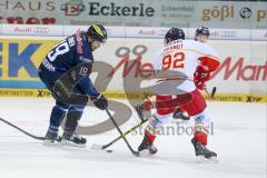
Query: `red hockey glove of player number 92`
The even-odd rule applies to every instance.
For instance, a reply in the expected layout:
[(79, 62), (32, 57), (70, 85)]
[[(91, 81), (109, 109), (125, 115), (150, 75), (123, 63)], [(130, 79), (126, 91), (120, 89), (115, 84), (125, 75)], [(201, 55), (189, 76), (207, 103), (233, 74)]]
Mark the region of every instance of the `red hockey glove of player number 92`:
[(206, 81), (209, 80), (210, 71), (207, 66), (198, 66), (194, 73), (194, 82), (200, 90), (206, 88)]

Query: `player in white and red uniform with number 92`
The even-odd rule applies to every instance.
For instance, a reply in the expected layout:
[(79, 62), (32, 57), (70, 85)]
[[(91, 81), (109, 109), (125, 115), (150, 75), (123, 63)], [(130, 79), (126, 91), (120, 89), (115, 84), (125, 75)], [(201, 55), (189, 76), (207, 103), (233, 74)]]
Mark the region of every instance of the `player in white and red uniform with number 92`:
[[(165, 43), (166, 46), (155, 60), (155, 70), (160, 73), (155, 89), (156, 113), (150, 117), (145, 128), (145, 137), (138, 150), (149, 151), (151, 155), (157, 152), (154, 141), (160, 127), (172, 118), (177, 107), (174, 102), (189, 93), (190, 100), (180, 106), (180, 109), (195, 119), (191, 139), (195, 154), (204, 159), (214, 159), (217, 154), (206, 148), (210, 118), (206, 111), (206, 101), (198, 89), (206, 87), (205, 82), (209, 80), (210, 72), (218, 68), (218, 55), (208, 44), (185, 40), (184, 31), (178, 28), (169, 29), (165, 36)], [(177, 75), (170, 76), (170, 71), (176, 71)], [(178, 83), (175, 89), (170, 81)], [(169, 105), (162, 107), (162, 102)]]

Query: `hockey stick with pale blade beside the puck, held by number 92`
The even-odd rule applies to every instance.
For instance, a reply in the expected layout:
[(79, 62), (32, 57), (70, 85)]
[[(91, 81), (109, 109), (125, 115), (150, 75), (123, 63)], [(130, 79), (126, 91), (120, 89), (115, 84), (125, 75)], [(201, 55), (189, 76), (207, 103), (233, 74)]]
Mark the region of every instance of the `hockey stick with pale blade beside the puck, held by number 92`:
[(97, 145), (97, 144), (93, 144), (91, 146), (91, 149), (95, 149), (95, 150), (102, 150), (102, 149), (106, 149), (108, 147), (110, 147), (111, 145), (113, 145), (115, 142), (117, 142), (118, 140), (120, 140), (122, 137), (126, 137), (127, 135), (129, 135), (130, 132), (132, 132), (134, 130), (136, 130), (138, 127), (142, 126), (145, 122), (148, 121), (148, 118), (146, 118), (145, 120), (142, 120), (140, 123), (134, 126), (132, 128), (130, 128), (129, 130), (127, 130), (123, 135), (120, 135), (119, 137), (117, 137), (116, 139), (113, 139), (112, 141), (110, 141), (109, 144), (106, 144), (106, 145)]

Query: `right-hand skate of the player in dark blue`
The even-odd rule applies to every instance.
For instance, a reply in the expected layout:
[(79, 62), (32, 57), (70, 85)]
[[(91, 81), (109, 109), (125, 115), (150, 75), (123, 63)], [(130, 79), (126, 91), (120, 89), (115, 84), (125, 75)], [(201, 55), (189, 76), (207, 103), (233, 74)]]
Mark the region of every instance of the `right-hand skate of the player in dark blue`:
[(62, 139), (60, 141), (61, 146), (70, 146), (70, 147), (78, 147), (78, 148), (86, 148), (87, 139), (73, 134), (72, 136), (68, 136), (63, 134)]

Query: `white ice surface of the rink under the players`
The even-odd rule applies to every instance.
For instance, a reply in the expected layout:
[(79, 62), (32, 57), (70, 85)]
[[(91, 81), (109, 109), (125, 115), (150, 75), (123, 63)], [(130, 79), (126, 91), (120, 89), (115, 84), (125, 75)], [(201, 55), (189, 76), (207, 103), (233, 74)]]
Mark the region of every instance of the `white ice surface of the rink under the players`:
[[(52, 106), (52, 99), (0, 98), (0, 117), (43, 136)], [(136, 158), (123, 141), (111, 147), (112, 154), (90, 149), (92, 144), (108, 144), (118, 136), (116, 130), (86, 136), (88, 148), (78, 149), (42, 146), (41, 141), (0, 122), (0, 178), (266, 177), (266, 103), (209, 102), (208, 107), (214, 121), (208, 148), (218, 154), (217, 164), (197, 162), (191, 136), (185, 134), (160, 136), (156, 141), (159, 149), (156, 156)], [(96, 118), (103, 115), (103, 111), (87, 108), (80, 125), (96, 123)], [(122, 129), (137, 121), (134, 115)], [(136, 149), (142, 136), (129, 136), (128, 139)]]

